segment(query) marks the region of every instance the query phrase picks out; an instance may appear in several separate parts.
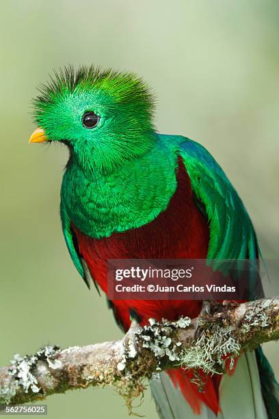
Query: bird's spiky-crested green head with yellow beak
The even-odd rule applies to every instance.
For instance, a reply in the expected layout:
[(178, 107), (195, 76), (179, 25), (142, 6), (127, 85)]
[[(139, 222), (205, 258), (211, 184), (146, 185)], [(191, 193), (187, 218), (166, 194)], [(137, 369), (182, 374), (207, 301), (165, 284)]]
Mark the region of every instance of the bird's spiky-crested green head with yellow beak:
[(154, 100), (137, 76), (72, 67), (55, 73), (34, 100), (30, 142), (63, 142), (88, 170), (114, 170), (155, 142)]

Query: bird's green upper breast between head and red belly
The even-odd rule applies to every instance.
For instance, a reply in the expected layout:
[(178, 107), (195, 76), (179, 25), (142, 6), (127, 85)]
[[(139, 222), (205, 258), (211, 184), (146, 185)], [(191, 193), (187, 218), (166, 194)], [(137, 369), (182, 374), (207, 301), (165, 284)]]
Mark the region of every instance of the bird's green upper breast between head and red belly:
[(94, 238), (142, 227), (168, 207), (176, 190), (176, 160), (175, 150), (158, 141), (107, 175), (86, 173), (71, 162), (61, 192), (70, 220)]

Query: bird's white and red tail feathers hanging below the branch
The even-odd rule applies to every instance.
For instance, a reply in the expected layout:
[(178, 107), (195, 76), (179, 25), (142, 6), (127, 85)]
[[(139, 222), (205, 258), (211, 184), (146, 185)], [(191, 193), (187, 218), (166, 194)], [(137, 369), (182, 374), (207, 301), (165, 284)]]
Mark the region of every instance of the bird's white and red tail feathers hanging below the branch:
[[(274, 388), (270, 380), (272, 379), (275, 383), (276, 381), (274, 381), (269, 364), (266, 364), (266, 359), (263, 360), (263, 353), (261, 355), (261, 363), (258, 361), (258, 353), (250, 352), (241, 355), (233, 374), (219, 376), (222, 377), (222, 379), (219, 378), (220, 385), (217, 385), (218, 378), (214, 381), (216, 376), (207, 377), (207, 385), (200, 394), (197, 394), (197, 385), (193, 380), (189, 380), (189, 375), (185, 370), (175, 370), (175, 374), (174, 370), (170, 370), (168, 374), (161, 372), (158, 378), (150, 382), (159, 417), (161, 419), (278, 418), (278, 399), (275, 393), (271, 400), (267, 400), (268, 390)], [(263, 374), (265, 370), (261, 381), (258, 364), (261, 364), (259, 365), (260, 374)], [(265, 381), (264, 386), (262, 381)], [(212, 393), (213, 388), (215, 388), (217, 402)]]

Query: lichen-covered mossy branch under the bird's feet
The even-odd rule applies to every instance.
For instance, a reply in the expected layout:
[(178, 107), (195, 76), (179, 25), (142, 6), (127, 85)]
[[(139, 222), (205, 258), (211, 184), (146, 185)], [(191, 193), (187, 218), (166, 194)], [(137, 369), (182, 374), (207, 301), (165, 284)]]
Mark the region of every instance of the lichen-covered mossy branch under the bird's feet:
[(150, 319), (144, 328), (132, 322), (127, 335), (114, 342), (15, 355), (11, 366), (0, 368), (0, 405), (107, 384), (131, 401), (142, 392), (143, 380), (161, 370), (182, 365), (223, 373), (226, 355), (233, 361), (241, 351), (279, 338), (279, 297), (240, 305), (213, 302), (211, 308), (208, 318)]

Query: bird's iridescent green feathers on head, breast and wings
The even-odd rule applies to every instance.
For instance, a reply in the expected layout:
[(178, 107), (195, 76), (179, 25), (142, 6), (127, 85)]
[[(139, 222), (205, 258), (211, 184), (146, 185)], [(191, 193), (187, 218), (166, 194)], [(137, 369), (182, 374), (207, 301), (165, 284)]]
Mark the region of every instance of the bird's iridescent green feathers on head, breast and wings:
[[(176, 166), (182, 157), (198, 207), (206, 212), (208, 262), (256, 259), (258, 244), (250, 218), (222, 168), (200, 144), (182, 136), (157, 134), (154, 99), (137, 76), (100, 68), (66, 68), (40, 87), (35, 119), (51, 141), (63, 142), (70, 158), (61, 190), (61, 218), (72, 262), (85, 278), (72, 223), (92, 238), (142, 227), (167, 209), (176, 190)], [(83, 125), (86, 112), (98, 125)], [(250, 278), (251, 287), (254, 276)], [(264, 394), (274, 376), (265, 370)], [(276, 409), (275, 396), (265, 395)], [(275, 406), (275, 407), (274, 407)], [(272, 413), (271, 418), (275, 418)]]

